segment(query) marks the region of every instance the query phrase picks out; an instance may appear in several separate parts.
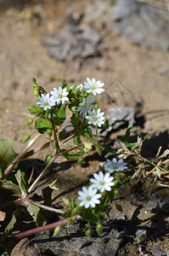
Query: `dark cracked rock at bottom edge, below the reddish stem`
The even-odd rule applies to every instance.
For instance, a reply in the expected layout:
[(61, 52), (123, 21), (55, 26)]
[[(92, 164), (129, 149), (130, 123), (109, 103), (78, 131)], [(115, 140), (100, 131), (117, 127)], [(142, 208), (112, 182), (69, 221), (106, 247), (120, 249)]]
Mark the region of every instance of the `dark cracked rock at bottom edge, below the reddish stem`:
[(72, 224), (69, 229), (62, 227), (59, 234), (52, 237), (53, 231), (37, 234), (33, 239), (45, 251), (50, 248), (54, 255), (93, 255), (115, 256), (121, 244), (121, 233), (113, 229), (112, 222), (103, 224), (100, 236), (95, 232), (93, 236), (86, 236), (84, 223)]

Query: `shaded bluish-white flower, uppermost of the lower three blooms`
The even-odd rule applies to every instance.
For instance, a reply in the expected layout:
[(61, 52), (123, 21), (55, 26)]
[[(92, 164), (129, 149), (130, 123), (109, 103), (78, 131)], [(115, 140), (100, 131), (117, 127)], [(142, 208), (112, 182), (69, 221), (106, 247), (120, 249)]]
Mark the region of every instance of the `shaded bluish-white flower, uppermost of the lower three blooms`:
[(116, 160), (115, 158), (113, 158), (112, 161), (110, 161), (109, 159), (106, 160), (106, 163), (104, 163), (104, 169), (107, 172), (120, 172), (123, 171), (125, 169), (127, 169), (127, 163), (124, 163), (123, 160)]

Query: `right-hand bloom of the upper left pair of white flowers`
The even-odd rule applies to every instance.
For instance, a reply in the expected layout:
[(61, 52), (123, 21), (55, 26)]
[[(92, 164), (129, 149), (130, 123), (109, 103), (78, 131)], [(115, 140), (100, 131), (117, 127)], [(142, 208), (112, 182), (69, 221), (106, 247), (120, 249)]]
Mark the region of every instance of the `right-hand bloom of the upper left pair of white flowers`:
[(69, 92), (66, 88), (62, 89), (62, 87), (59, 86), (59, 89), (54, 88), (50, 93), (54, 96), (54, 101), (57, 102), (58, 105), (60, 103), (65, 104), (65, 102), (69, 101), (67, 97)]

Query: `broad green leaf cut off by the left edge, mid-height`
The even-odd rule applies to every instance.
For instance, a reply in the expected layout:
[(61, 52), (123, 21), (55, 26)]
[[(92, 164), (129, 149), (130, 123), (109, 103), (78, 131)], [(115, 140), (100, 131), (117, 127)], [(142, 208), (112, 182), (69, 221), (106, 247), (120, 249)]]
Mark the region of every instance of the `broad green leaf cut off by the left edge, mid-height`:
[(11, 163), (17, 154), (13, 149), (13, 140), (0, 140), (0, 167), (1, 172), (4, 172), (9, 163)]

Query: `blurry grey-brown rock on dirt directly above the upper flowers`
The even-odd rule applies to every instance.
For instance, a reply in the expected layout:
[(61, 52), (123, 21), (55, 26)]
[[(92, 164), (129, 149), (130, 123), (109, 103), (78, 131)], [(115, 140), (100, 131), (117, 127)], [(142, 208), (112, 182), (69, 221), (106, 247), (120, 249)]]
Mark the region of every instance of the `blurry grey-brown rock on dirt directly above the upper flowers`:
[(49, 47), (48, 55), (55, 60), (71, 61), (98, 56), (100, 42), (101, 38), (96, 30), (89, 26), (78, 26), (71, 19), (70, 24), (56, 38), (46, 38), (43, 44)]

